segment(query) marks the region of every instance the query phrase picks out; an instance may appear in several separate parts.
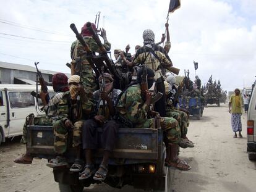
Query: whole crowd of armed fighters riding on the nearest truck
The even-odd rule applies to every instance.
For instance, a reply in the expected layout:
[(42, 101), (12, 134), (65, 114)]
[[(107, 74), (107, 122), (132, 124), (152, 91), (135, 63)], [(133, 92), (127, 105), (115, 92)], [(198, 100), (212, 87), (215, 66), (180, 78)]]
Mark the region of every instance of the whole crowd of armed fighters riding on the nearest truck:
[[(86, 25), (82, 27), (81, 35), (93, 53), (100, 53), (98, 44)], [(74, 41), (71, 46), (71, 77), (64, 73), (53, 75), (54, 96), (46, 102), (47, 93), (40, 93), (45, 105), (46, 117), (29, 115), (23, 128), (22, 143), (27, 142), (28, 125), (53, 125), (54, 151), (56, 158), (48, 162), (49, 167), (68, 165), (65, 152), (72, 139), (72, 147), (77, 152), (75, 163), (70, 167), (71, 172), (80, 172), (80, 180), (93, 177), (103, 181), (108, 174), (108, 160), (115, 148), (119, 127), (156, 128), (159, 124), (163, 130), (166, 146), (165, 165), (181, 170), (191, 167), (186, 161), (179, 159), (179, 147), (192, 148), (194, 144), (187, 138), (189, 116), (186, 111), (174, 106), (174, 94), (177, 91), (176, 78), (172, 73), (163, 73), (163, 69), (173, 66), (168, 56), (171, 43), (169, 41), (168, 23), (166, 27), (167, 41), (163, 37), (160, 43), (155, 43), (152, 30), (143, 31), (143, 46), (135, 46), (135, 55), (126, 51), (114, 49), (116, 61), (113, 66), (123, 75), (132, 72), (137, 78), (123, 90), (114, 86), (113, 74), (103, 72), (95, 76), (93, 68), (84, 54), (83, 45)], [(96, 30), (95, 25), (92, 28)], [(109, 51), (111, 44), (102, 28), (100, 35), (104, 40), (103, 46)], [(76, 65), (80, 64), (80, 67)], [(137, 67), (143, 64), (145, 67)], [(147, 73), (147, 86), (150, 90), (142, 91), (143, 75)], [(155, 86), (155, 88), (154, 88)], [(153, 90), (153, 91), (151, 91)], [(154, 93), (161, 92), (163, 96), (152, 103)], [(99, 136), (97, 128), (103, 133)], [(99, 167), (93, 162), (93, 151), (104, 150)], [(14, 160), (22, 164), (31, 164), (33, 157), (23, 154)]]

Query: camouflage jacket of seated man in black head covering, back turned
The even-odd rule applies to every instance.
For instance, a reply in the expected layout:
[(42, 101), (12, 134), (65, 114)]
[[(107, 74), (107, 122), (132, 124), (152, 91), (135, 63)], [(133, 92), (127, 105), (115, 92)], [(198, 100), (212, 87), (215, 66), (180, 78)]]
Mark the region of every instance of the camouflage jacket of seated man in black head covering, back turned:
[(135, 125), (147, 121), (149, 107), (143, 101), (141, 93), (139, 84), (130, 86), (122, 93), (116, 106), (117, 113), (122, 114)]

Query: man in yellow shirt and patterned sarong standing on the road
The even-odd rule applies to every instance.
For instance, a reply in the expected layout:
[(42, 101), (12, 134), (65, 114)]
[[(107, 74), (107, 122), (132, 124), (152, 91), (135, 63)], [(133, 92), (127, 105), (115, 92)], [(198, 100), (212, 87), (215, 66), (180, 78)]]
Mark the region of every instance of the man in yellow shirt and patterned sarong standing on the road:
[(242, 97), (240, 94), (240, 90), (236, 88), (234, 90), (233, 95), (231, 95), (229, 100), (229, 113), (231, 113), (231, 125), (234, 131), (234, 138), (237, 138), (236, 132), (239, 131), (239, 137), (242, 138), (242, 122), (241, 122), (241, 115), (242, 115)]

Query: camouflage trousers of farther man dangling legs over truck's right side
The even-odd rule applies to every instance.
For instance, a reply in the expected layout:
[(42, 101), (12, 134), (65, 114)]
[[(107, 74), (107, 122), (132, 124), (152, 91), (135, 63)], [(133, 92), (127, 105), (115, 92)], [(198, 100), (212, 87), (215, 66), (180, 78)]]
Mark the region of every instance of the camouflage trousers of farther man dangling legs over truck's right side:
[(181, 128), (181, 138), (187, 135), (187, 127), (189, 127), (189, 118), (186, 112), (179, 111), (176, 109), (167, 109), (166, 117), (173, 117), (179, 122), (179, 127)]

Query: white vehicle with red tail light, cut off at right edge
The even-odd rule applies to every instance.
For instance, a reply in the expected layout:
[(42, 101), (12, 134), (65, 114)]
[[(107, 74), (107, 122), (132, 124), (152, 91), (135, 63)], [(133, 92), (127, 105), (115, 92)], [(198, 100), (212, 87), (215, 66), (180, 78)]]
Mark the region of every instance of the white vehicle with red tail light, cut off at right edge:
[(247, 152), (250, 160), (256, 160), (256, 89), (252, 92), (247, 114)]

